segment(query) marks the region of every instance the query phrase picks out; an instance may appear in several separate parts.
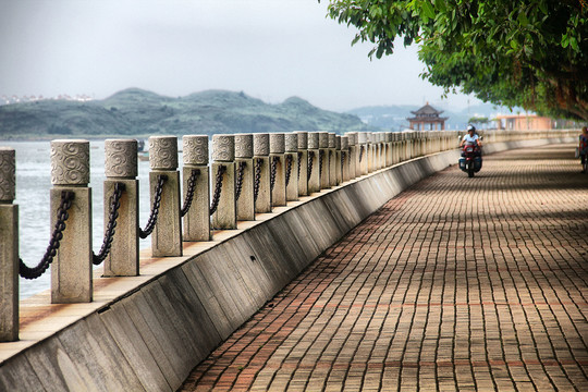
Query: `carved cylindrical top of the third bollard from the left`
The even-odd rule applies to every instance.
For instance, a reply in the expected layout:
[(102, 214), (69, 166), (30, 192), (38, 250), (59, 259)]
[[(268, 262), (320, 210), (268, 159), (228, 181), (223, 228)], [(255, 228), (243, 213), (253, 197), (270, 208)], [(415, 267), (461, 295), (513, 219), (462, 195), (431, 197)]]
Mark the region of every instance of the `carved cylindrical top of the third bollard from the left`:
[(137, 140), (105, 140), (105, 174), (107, 177), (134, 179), (137, 176)]

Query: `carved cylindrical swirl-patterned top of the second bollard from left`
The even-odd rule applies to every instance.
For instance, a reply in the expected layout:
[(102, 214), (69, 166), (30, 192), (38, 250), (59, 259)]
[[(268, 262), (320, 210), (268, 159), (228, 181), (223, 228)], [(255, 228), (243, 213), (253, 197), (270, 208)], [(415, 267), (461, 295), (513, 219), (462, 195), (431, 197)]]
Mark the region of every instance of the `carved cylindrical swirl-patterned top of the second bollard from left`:
[(51, 140), (51, 184), (87, 186), (88, 183), (89, 142)]

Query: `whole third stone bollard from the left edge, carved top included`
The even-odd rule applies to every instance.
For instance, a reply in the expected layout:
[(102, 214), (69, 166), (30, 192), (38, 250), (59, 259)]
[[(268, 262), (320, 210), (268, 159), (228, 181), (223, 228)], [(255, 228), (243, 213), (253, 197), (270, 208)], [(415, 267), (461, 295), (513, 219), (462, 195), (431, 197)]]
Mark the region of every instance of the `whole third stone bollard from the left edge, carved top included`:
[(105, 140), (105, 232), (117, 183), (124, 185), (119, 218), (110, 253), (105, 259), (105, 277), (136, 277), (138, 264), (137, 140)]

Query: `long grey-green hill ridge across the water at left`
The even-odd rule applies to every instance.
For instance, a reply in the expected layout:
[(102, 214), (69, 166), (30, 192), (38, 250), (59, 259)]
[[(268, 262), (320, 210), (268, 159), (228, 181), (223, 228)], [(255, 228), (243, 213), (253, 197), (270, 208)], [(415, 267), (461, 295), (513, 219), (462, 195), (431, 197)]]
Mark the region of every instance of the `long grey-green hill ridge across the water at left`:
[(350, 113), (292, 97), (269, 105), (244, 93), (208, 90), (171, 98), (130, 88), (88, 102), (0, 106), (0, 138), (149, 136), (290, 131), (375, 131)]

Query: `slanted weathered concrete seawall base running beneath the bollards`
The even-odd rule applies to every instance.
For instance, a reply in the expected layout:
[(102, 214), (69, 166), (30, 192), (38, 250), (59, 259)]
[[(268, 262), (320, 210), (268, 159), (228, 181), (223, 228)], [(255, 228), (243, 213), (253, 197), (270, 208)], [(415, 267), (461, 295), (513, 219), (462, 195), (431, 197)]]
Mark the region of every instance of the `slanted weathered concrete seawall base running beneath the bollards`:
[[(485, 147), (497, 152), (563, 140)], [(184, 257), (149, 259), (137, 278), (98, 283), (95, 303), (34, 343), (5, 343), (0, 391), (174, 391), (189, 370), (326, 248), (412, 184), (455, 164), (458, 150), (396, 164), (277, 208)], [(464, 181), (467, 179), (464, 177)], [(148, 267), (148, 266), (147, 266)], [(58, 308), (58, 306), (53, 306)]]

